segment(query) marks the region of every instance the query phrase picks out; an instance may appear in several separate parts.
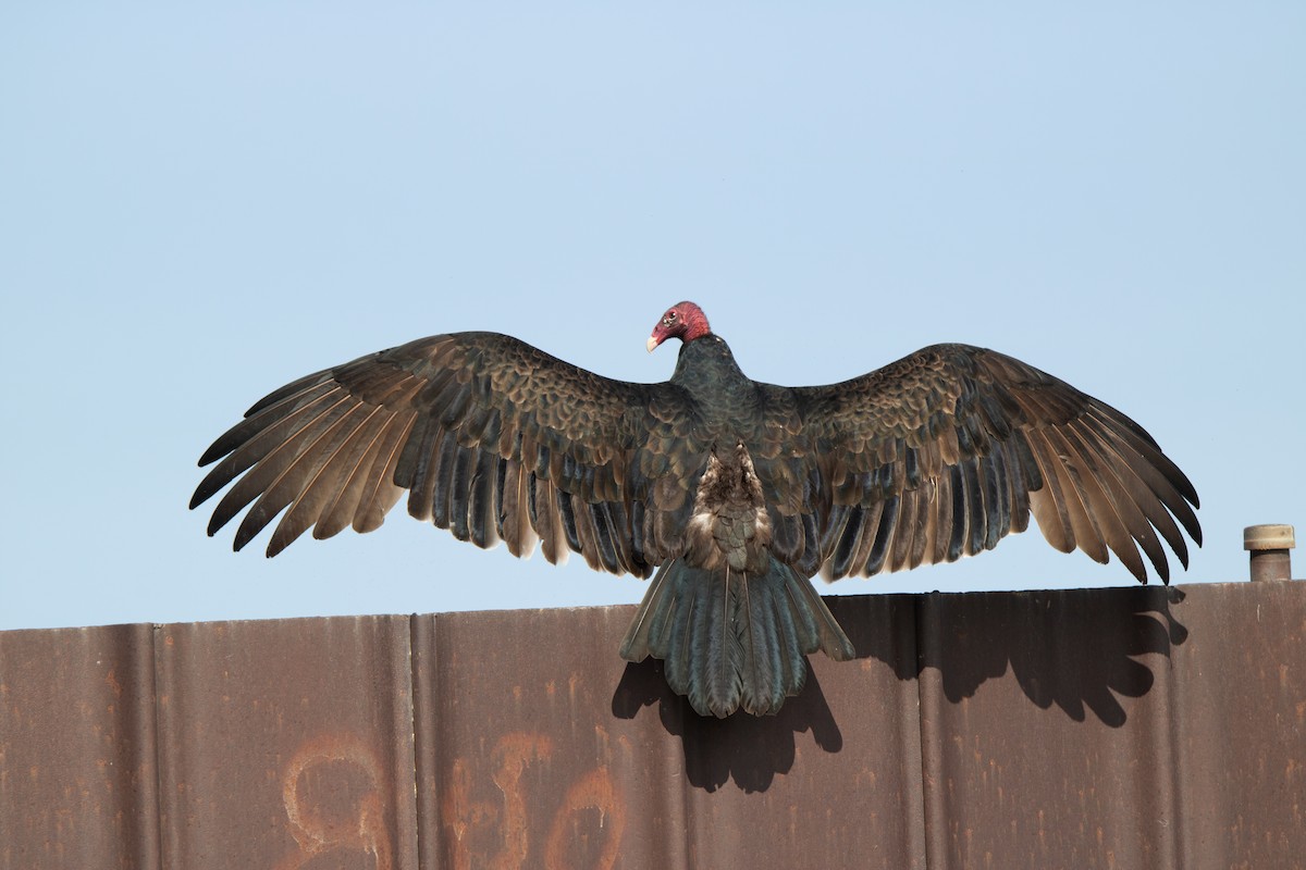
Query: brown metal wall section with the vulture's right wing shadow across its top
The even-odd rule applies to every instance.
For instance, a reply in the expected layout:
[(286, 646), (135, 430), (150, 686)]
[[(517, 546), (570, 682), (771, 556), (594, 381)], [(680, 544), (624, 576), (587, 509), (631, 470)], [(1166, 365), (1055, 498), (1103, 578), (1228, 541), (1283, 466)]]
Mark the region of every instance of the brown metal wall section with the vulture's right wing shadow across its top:
[(930, 867), (1179, 867), (1165, 588), (921, 601)]

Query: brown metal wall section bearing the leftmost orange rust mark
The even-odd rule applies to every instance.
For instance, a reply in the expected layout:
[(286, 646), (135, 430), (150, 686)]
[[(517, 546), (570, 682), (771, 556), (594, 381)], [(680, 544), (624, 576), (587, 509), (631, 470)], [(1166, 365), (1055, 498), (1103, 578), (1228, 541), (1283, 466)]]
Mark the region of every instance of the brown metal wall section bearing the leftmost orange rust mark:
[(406, 617), (165, 625), (166, 867), (415, 867)]

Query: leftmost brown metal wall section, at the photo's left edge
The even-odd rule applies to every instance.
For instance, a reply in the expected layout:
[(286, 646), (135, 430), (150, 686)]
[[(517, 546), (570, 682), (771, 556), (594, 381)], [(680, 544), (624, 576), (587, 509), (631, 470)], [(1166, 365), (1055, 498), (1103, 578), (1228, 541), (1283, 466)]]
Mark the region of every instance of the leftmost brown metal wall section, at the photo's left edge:
[(158, 866), (153, 635), (0, 631), (0, 866)]

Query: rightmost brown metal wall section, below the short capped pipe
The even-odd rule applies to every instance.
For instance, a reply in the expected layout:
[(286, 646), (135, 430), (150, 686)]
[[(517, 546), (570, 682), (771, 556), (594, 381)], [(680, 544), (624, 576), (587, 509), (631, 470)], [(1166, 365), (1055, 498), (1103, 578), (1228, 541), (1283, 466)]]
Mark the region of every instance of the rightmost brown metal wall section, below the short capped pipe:
[[(1249, 592), (1246, 590), (1255, 590)], [(1306, 863), (1306, 584), (1187, 587), (1168, 672), (1185, 858)]]

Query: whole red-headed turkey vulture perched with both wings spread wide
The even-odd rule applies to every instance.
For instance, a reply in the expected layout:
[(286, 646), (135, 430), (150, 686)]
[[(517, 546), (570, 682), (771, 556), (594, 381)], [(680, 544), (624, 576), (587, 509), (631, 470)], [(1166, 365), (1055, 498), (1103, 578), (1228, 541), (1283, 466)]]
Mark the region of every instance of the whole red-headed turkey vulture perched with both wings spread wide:
[[(417, 519), (477, 547), (541, 544), (593, 569), (654, 574), (620, 647), (662, 659), (700, 715), (773, 713), (804, 655), (853, 646), (808, 578), (951, 562), (1024, 531), (1140, 582), (1187, 566), (1198, 494), (1123, 413), (1002, 353), (936, 344), (842, 383), (751, 381), (703, 310), (661, 317), (682, 340), (663, 383), (614, 381), (507, 335), (423, 338), (270, 393), (200, 458), (191, 507), (236, 481), (244, 547), (312, 528), (368, 532), (407, 490)], [(282, 513), (285, 511), (285, 513)], [(1141, 549), (1141, 554), (1140, 550)]]

